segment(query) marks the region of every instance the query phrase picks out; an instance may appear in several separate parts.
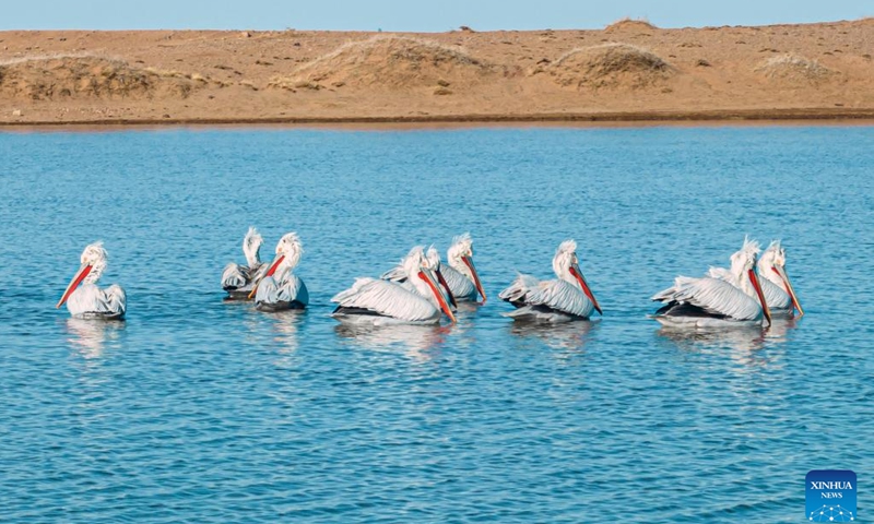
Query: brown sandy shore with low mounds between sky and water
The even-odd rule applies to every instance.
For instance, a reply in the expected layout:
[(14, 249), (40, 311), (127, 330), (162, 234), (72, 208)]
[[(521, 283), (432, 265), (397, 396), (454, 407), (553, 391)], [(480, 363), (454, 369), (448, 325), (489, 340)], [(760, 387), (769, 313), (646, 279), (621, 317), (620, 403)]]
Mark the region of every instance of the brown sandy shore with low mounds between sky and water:
[(373, 34), (0, 32), (0, 126), (874, 118), (874, 19)]

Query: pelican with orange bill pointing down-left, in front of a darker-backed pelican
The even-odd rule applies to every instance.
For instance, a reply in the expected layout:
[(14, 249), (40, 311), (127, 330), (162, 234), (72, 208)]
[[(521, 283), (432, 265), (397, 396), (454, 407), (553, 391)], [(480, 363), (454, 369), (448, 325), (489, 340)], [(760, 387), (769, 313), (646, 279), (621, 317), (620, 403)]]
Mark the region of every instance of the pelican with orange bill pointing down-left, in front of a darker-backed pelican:
[(256, 309), (281, 311), (307, 307), (309, 303), (307, 286), (292, 273), (300, 262), (303, 252), (304, 248), (296, 233), (283, 235), (276, 243), (276, 257), (249, 293), (249, 298), (255, 297)]

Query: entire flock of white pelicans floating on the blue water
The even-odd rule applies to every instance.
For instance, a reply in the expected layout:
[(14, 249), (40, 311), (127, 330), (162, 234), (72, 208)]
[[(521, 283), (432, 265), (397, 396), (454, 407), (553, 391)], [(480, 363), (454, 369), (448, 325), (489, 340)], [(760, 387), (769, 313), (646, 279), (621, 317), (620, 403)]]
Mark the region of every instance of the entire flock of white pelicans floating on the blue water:
[[(309, 291), (294, 273), (303, 255), (296, 233), (276, 243), (270, 263), (260, 259), (263, 238), (250, 227), (243, 240), (247, 265), (229, 263), (222, 273), (222, 288), (228, 299), (255, 300), (260, 311), (302, 310), (309, 305)], [(760, 254), (760, 255), (759, 255)], [(127, 312), (127, 295), (114, 284), (105, 289), (97, 281), (107, 265), (103, 242), (94, 242), (80, 257), (81, 266), (57, 308), (64, 303), (80, 319), (119, 320)], [(512, 305), (505, 313), (515, 321), (567, 322), (603, 314), (579, 266), (577, 242), (565, 240), (552, 261), (556, 278), (540, 281), (518, 274), (498, 297)], [(482, 298), (481, 302), (477, 299)], [(773, 317), (804, 314), (786, 272), (786, 249), (775, 240), (761, 253), (758, 242), (744, 239), (731, 255), (728, 269), (710, 267), (706, 276), (677, 276), (674, 284), (653, 295), (661, 307), (651, 317), (676, 327), (725, 325), (770, 325)], [(435, 247), (427, 252), (414, 247), (381, 278), (362, 277), (332, 299), (331, 315), (351, 324), (439, 324), (444, 315), (454, 323), (458, 302), (484, 305), (486, 293), (473, 263), (473, 239), (463, 234), (452, 239), (447, 263)]]

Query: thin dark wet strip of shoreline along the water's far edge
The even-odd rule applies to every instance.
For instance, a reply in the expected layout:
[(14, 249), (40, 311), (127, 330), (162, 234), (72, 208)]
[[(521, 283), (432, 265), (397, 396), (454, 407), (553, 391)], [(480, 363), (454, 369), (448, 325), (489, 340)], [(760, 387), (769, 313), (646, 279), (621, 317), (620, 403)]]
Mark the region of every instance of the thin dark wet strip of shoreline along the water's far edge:
[(650, 126), (874, 126), (874, 109), (739, 109), (702, 111), (622, 111), (532, 115), (434, 115), (410, 117), (269, 117), (93, 119), (74, 121), (0, 121), (0, 132), (16, 130), (96, 130), (177, 127), (324, 127), (324, 128), (463, 128), (531, 124), (557, 127)]

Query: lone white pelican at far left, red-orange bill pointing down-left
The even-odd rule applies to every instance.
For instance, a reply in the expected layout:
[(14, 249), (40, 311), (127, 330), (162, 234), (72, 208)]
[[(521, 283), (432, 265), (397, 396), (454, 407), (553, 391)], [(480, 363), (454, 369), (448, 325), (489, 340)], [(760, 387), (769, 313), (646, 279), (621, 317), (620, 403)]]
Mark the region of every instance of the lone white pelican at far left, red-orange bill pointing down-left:
[(87, 246), (80, 258), (82, 266), (55, 308), (60, 308), (66, 302), (70, 314), (76, 319), (123, 319), (128, 301), (125, 289), (118, 284), (106, 289), (97, 287), (97, 281), (106, 270), (107, 258), (103, 242)]

